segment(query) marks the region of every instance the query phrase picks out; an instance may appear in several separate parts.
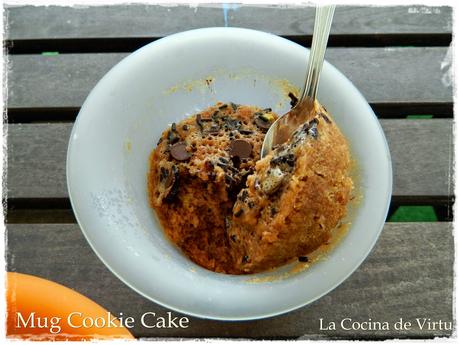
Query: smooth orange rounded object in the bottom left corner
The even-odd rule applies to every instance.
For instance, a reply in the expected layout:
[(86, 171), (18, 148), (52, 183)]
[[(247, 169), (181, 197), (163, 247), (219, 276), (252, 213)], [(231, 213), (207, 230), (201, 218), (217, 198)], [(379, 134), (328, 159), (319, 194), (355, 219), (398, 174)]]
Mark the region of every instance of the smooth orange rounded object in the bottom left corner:
[[(134, 339), (109, 311), (52, 281), (7, 273), (8, 338), (28, 340)], [(133, 325), (134, 320), (132, 320)], [(126, 325), (126, 323), (125, 323)]]

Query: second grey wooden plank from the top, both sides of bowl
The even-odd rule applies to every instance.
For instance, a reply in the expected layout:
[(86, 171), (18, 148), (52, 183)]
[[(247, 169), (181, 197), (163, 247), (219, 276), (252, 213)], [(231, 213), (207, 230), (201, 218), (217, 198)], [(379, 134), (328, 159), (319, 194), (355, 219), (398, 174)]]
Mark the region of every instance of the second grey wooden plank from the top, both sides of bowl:
[[(424, 106), (428, 111), (435, 104), (452, 104), (452, 87), (442, 81), (446, 54), (443, 47), (331, 48), (326, 58), (372, 105), (413, 104), (416, 110)], [(8, 107), (12, 111), (78, 108), (97, 81), (126, 55), (10, 56)]]

